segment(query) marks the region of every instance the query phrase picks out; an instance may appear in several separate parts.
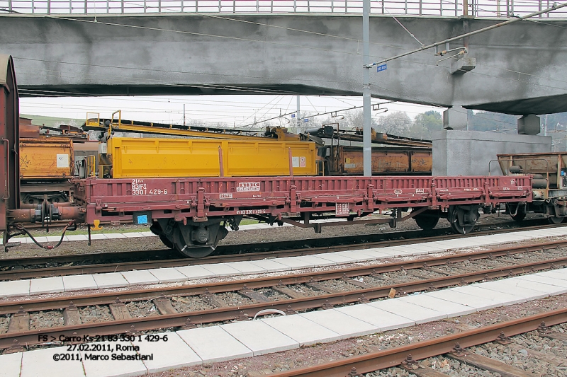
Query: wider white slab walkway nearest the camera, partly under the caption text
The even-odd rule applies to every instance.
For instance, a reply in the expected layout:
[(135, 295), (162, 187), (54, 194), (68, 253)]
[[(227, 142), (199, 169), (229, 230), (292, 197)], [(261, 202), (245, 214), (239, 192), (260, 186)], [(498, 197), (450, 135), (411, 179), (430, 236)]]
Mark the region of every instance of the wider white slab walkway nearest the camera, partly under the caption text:
[[(395, 330), (566, 292), (567, 269), (558, 269), (342, 308), (164, 332), (155, 334), (162, 339), (158, 342), (142, 337), (137, 342), (97, 343), (111, 351), (69, 352), (67, 347), (55, 347), (6, 354), (0, 356), (0, 376), (58, 377), (63, 370), (69, 377), (142, 376)], [(130, 350), (117, 351), (118, 347)], [(78, 355), (79, 360), (54, 361), (64, 354)], [(113, 354), (139, 356), (130, 361), (92, 359), (92, 355)]]

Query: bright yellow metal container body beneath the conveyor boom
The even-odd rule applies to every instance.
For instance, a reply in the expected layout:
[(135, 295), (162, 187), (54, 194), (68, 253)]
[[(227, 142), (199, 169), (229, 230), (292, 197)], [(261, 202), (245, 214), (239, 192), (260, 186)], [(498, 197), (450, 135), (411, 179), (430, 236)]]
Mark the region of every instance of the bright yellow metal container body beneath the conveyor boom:
[(308, 141), (115, 137), (107, 150), (113, 178), (289, 175), (290, 155), (293, 175), (317, 174), (315, 143)]

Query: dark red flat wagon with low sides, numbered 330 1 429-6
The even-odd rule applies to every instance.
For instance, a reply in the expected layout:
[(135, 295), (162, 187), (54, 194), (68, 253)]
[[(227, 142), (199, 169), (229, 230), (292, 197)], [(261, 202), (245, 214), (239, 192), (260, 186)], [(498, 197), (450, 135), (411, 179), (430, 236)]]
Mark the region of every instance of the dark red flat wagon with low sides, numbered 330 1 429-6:
[[(87, 224), (151, 224), (164, 244), (189, 257), (212, 253), (228, 233), (226, 227), (237, 230), (243, 216), (317, 232), (333, 225), (395, 226), (410, 218), (432, 228), (446, 217), (456, 232), (468, 233), (479, 209), (490, 212), (500, 203), (525, 202), (532, 195), (529, 176), (89, 178), (75, 185)], [(386, 210), (390, 219), (355, 220)], [(316, 221), (327, 218), (347, 222)]]

